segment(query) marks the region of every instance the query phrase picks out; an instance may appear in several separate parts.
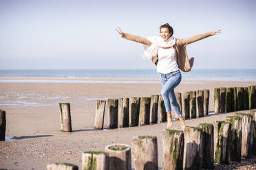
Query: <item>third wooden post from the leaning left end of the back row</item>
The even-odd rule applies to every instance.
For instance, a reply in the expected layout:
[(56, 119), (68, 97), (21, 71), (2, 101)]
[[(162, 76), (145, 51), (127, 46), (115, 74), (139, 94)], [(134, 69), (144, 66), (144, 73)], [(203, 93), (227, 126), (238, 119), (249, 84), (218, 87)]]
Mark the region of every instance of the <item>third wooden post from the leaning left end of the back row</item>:
[(129, 98), (118, 99), (118, 126), (129, 127)]

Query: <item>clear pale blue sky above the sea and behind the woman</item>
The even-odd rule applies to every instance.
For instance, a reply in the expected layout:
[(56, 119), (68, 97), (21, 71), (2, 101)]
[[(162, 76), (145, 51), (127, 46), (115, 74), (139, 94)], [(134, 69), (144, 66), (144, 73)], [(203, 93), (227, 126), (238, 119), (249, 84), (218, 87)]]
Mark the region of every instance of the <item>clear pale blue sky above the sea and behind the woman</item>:
[(154, 69), (116, 33), (174, 37), (222, 29), (187, 46), (194, 69), (256, 69), (255, 0), (0, 0), (0, 69)]

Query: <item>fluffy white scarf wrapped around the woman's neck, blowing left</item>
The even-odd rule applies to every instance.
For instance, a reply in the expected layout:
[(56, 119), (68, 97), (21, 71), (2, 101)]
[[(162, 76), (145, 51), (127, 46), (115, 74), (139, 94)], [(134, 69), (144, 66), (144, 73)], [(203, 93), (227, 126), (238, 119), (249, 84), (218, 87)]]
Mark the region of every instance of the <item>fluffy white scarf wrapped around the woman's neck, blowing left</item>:
[(158, 55), (158, 49), (160, 48), (166, 48), (166, 47), (173, 47), (176, 42), (176, 38), (173, 38), (173, 36), (170, 36), (170, 38), (167, 41), (162, 40), (160, 36), (149, 36), (147, 38), (152, 44), (150, 46), (143, 45), (144, 46), (144, 52), (143, 52), (143, 58), (153, 58)]

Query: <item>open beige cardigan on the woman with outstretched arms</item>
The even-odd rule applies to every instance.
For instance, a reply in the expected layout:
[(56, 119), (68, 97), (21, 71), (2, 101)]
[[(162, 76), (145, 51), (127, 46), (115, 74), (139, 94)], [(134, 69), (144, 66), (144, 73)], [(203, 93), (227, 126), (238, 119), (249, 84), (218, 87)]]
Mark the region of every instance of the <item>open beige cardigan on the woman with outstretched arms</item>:
[[(175, 59), (177, 61), (178, 67), (182, 71), (184, 71), (184, 72), (191, 71), (193, 62), (194, 62), (194, 58), (191, 58), (189, 60), (189, 58), (187, 56), (186, 45), (189, 45), (192, 42), (202, 40), (202, 39), (212, 36), (212, 35), (213, 35), (213, 32), (207, 32), (204, 34), (198, 34), (198, 35), (192, 36), (191, 38), (176, 38), (176, 43), (173, 46), (175, 49), (175, 52), (176, 52)], [(149, 46), (152, 44), (152, 42), (147, 40), (147, 38), (142, 38), (140, 36), (134, 36), (134, 35), (127, 34), (127, 33), (122, 33), (122, 38), (125, 38), (127, 40), (132, 40), (135, 42), (140, 42), (142, 44), (149, 45)], [(158, 57), (156, 56), (156, 57), (152, 58), (152, 62), (154, 64), (158, 64)]]

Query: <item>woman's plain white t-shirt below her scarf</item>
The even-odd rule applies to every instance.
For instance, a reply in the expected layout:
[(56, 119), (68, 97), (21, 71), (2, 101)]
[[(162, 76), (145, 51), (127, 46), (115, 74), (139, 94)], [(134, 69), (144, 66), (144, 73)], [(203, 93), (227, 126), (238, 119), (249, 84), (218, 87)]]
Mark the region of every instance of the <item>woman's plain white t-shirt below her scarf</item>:
[(175, 60), (175, 49), (173, 47), (169, 49), (158, 49), (158, 73), (167, 74), (178, 69), (178, 64)]

